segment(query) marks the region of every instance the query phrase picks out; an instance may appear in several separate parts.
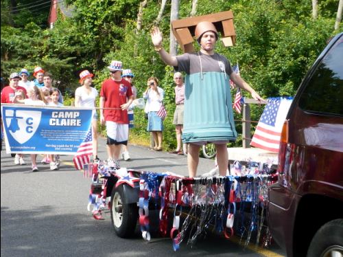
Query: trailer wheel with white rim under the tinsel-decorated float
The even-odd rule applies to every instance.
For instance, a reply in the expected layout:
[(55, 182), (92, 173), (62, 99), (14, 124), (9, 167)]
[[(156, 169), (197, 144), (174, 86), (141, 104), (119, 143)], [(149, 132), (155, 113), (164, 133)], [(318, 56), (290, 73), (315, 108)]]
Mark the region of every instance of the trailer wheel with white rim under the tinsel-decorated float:
[(121, 238), (134, 235), (137, 225), (138, 207), (137, 203), (123, 203), (125, 201), (124, 186), (113, 187), (111, 194), (110, 218), (115, 234)]

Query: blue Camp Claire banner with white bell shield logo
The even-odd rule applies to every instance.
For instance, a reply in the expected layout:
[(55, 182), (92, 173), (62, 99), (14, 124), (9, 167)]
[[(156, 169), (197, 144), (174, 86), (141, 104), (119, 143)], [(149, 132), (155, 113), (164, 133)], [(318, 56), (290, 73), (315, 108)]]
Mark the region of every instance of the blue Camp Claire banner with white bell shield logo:
[(91, 108), (1, 104), (6, 153), (75, 155), (92, 117)]

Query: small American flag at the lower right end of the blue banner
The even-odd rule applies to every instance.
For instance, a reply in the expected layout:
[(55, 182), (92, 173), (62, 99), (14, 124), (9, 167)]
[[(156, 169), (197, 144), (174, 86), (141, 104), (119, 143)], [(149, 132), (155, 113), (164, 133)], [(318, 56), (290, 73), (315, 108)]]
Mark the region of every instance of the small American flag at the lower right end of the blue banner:
[(89, 129), (84, 142), (82, 142), (73, 157), (74, 165), (77, 170), (82, 170), (84, 164), (90, 162), (89, 155), (93, 153), (92, 129)]

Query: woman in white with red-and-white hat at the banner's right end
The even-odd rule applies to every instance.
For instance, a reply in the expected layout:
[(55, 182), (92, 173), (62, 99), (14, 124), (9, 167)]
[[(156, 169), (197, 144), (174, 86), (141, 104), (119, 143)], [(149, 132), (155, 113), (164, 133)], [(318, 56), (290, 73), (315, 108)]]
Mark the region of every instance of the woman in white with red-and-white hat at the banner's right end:
[[(91, 87), (93, 82), (93, 76), (94, 75), (86, 69), (80, 73), (80, 84), (82, 86), (78, 87), (75, 91), (75, 107), (95, 108), (95, 99), (97, 98), (98, 93), (97, 89)], [(93, 161), (99, 161), (99, 158), (97, 157), (97, 120), (97, 111), (93, 109)]]

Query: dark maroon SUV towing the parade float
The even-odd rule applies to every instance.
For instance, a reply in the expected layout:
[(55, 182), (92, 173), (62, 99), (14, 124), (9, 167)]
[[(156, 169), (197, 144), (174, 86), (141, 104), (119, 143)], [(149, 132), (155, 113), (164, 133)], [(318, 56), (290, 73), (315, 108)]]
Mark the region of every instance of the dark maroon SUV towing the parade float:
[(301, 83), (269, 188), (268, 223), (287, 256), (343, 256), (343, 33)]

